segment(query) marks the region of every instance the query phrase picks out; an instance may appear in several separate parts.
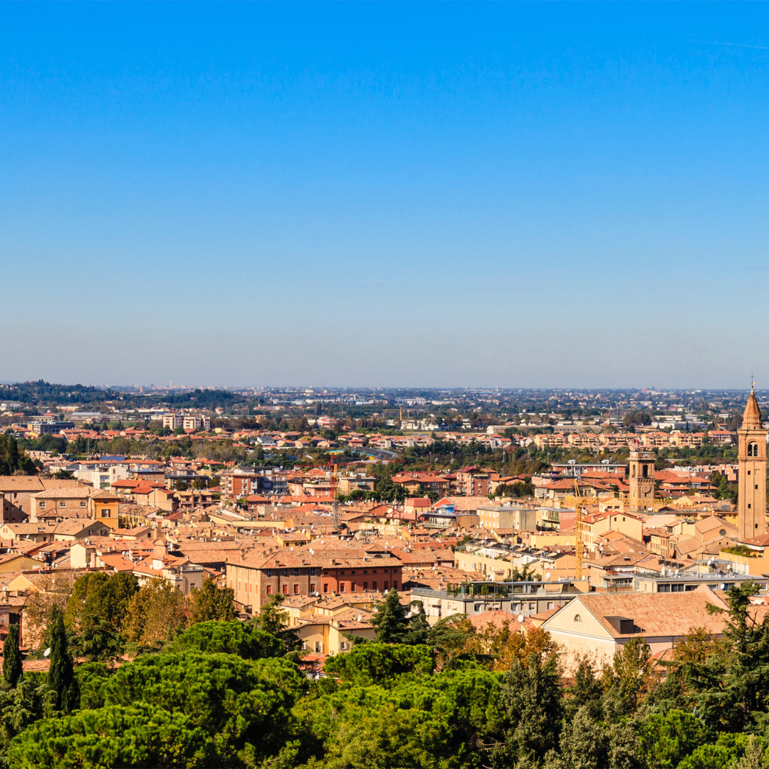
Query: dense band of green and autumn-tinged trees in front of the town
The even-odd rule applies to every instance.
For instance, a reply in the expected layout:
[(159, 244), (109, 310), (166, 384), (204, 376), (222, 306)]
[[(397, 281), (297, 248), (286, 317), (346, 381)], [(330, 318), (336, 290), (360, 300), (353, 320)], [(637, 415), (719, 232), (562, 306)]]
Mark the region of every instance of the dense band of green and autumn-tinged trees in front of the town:
[(609, 664), (577, 661), (568, 678), (544, 631), (478, 631), (462, 616), (430, 627), (421, 604), (409, 611), (391, 591), (375, 641), (350, 635), (351, 651), (326, 661), (328, 677), (308, 681), (279, 598), (247, 622), (193, 623), (117, 669), (73, 669), (64, 628), (84, 620), (69, 609), (133, 600), (125, 584), (105, 585), (93, 601), (93, 586), (81, 586), (56, 615), (47, 678), (13, 681), (4, 666), (8, 767), (767, 765), (769, 625), (751, 621), (751, 586), (729, 594), (723, 640), (693, 631), (661, 664), (637, 638)]

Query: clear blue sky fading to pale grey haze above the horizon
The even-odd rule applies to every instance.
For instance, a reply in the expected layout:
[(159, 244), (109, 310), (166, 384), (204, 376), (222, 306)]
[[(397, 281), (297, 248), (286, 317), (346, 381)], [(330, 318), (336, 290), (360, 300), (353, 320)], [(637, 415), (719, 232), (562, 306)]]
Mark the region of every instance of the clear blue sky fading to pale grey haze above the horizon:
[(767, 387), (767, 22), (3, 3), (0, 380)]

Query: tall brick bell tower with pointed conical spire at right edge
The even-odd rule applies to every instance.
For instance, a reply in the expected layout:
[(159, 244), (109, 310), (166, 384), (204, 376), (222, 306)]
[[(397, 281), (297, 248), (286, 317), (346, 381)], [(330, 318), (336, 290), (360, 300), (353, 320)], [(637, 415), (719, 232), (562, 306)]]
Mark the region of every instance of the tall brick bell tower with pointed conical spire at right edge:
[(742, 427), (737, 430), (739, 444), (739, 497), (737, 529), (741, 542), (767, 533), (767, 431), (761, 422), (761, 409), (751, 388)]

